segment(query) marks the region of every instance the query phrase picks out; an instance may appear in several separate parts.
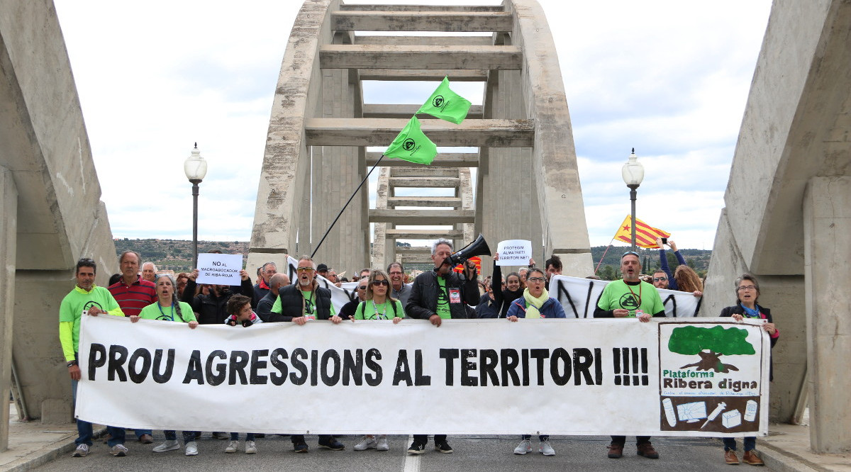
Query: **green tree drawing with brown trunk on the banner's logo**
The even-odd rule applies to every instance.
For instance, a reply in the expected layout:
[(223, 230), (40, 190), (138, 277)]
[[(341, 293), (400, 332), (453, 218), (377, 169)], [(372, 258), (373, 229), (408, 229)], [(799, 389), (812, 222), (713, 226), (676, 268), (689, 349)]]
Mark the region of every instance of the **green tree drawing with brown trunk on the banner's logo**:
[(727, 373), (739, 368), (724, 364), (721, 355), (753, 355), (756, 351), (748, 343), (747, 330), (739, 327), (675, 327), (668, 339), (668, 350), (683, 355), (700, 355), (700, 361), (680, 367), (697, 367), (699, 371)]

